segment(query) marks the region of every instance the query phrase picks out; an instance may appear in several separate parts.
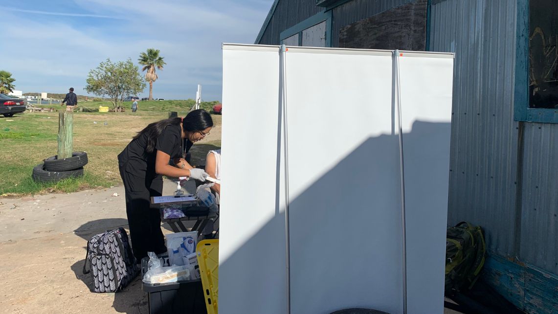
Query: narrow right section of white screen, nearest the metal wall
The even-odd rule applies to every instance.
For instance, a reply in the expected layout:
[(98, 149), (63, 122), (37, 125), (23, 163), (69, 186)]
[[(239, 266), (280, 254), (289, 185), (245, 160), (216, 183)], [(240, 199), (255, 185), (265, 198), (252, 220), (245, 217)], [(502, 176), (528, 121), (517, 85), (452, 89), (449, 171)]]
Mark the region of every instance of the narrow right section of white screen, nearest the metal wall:
[(399, 61), (407, 313), (442, 313), (454, 59), (401, 51)]

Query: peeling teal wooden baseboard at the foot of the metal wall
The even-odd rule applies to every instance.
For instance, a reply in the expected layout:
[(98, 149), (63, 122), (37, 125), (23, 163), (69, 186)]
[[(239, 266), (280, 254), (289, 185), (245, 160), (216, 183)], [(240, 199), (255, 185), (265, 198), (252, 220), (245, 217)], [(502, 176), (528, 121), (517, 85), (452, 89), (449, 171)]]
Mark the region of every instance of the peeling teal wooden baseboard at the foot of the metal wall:
[(488, 254), (482, 278), (528, 314), (558, 313), (558, 275)]

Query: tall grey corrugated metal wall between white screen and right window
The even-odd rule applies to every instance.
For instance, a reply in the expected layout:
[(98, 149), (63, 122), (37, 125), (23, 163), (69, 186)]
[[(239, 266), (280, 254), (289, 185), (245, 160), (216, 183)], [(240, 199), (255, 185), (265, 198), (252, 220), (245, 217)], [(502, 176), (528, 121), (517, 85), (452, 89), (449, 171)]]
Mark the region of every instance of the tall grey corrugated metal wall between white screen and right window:
[(430, 25), (429, 49), (456, 56), (448, 223), (482, 225), (489, 250), (512, 257), (516, 1), (439, 2), (432, 5)]

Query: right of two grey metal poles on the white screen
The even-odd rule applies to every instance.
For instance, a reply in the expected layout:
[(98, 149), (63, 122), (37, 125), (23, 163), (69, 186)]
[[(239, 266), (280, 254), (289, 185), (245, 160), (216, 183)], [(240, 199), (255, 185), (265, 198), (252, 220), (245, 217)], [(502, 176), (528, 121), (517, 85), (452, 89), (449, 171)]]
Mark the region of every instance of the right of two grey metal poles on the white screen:
[(407, 314), (407, 234), (405, 223), (405, 172), (403, 172), (403, 128), (401, 127), (401, 76), (399, 71), (400, 52), (396, 50), (395, 69), (396, 69), (396, 96), (397, 96), (397, 122), (399, 127), (399, 159), (401, 165), (401, 238), (403, 241), (403, 314)]

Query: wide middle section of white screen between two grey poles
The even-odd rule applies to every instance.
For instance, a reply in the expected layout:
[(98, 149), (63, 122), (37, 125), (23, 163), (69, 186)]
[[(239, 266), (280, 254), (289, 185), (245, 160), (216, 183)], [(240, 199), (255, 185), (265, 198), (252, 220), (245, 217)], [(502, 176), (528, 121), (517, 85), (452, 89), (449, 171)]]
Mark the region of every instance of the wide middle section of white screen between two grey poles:
[(392, 52), (359, 54), (286, 54), (292, 313), (402, 307)]

